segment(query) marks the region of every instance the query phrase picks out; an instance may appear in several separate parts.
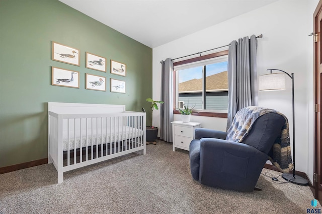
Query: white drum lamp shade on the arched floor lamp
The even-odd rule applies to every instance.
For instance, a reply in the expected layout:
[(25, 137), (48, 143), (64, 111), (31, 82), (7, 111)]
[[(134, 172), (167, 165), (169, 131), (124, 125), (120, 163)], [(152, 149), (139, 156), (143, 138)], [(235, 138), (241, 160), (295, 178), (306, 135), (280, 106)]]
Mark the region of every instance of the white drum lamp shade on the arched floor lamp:
[(285, 74), (273, 73), (259, 76), (258, 85), (260, 91), (284, 90)]

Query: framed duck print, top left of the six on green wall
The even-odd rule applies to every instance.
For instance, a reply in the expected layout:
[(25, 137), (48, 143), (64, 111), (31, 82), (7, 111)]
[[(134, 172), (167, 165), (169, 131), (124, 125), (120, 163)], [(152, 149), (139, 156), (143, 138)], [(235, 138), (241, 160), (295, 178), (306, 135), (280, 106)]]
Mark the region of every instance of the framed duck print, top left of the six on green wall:
[(52, 41), (52, 60), (79, 66), (79, 50)]

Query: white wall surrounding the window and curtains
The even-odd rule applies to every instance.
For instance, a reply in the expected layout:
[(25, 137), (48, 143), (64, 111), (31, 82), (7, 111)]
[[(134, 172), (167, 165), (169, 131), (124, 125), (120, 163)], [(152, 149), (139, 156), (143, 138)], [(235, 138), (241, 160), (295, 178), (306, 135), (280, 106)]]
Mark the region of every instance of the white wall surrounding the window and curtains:
[[(266, 69), (294, 73), (296, 170), (313, 173), (313, 30), (312, 15), (318, 0), (280, 0), (263, 8), (222, 22), (210, 28), (153, 49), (153, 99), (160, 98), (161, 60), (209, 50), (232, 40), (263, 34), (258, 40), (258, 75)], [(273, 108), (289, 118), (292, 142), (291, 79), (287, 90), (259, 92), (259, 105)], [(175, 115), (175, 120), (179, 119)], [(225, 130), (222, 118), (192, 116), (202, 127)], [(220, 125), (218, 125), (220, 124)], [(159, 111), (153, 112), (153, 125), (159, 125)]]

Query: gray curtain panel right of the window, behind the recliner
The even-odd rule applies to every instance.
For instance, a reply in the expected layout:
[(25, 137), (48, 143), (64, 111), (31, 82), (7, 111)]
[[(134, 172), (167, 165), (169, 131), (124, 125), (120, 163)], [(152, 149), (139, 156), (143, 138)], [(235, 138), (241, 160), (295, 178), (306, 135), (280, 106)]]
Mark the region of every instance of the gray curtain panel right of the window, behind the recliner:
[(255, 35), (232, 41), (228, 51), (228, 117), (227, 130), (236, 112), (258, 105)]

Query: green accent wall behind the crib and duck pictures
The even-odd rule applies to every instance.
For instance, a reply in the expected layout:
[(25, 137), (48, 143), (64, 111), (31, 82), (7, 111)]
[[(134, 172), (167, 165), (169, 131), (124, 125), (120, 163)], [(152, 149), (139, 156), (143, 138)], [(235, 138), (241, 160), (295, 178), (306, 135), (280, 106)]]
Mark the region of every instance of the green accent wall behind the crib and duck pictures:
[[(78, 49), (80, 66), (53, 61), (52, 41)], [(0, 167), (47, 157), (48, 102), (149, 109), (152, 49), (57, 0), (1, 0), (0, 50)], [(106, 58), (107, 72), (87, 69), (86, 52)], [(110, 74), (111, 59), (126, 77)], [(52, 86), (52, 66), (79, 72), (79, 89)], [(85, 89), (86, 73), (106, 77), (106, 91)], [(110, 92), (110, 78), (125, 81), (126, 94)]]

